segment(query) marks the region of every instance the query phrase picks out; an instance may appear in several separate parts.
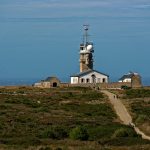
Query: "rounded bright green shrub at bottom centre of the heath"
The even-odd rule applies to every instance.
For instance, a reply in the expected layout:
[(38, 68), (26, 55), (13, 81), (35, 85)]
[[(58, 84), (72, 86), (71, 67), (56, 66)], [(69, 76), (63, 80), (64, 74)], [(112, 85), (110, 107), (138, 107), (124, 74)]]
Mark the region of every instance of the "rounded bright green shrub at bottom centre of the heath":
[(89, 135), (86, 127), (77, 126), (70, 131), (69, 137), (73, 140), (88, 140)]

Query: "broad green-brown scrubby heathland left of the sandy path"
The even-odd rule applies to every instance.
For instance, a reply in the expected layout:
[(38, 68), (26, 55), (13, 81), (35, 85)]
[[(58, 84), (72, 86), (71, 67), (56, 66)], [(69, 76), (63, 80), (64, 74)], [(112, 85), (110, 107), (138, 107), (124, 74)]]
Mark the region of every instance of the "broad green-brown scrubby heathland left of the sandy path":
[(1, 149), (113, 149), (150, 144), (90, 88), (0, 88)]

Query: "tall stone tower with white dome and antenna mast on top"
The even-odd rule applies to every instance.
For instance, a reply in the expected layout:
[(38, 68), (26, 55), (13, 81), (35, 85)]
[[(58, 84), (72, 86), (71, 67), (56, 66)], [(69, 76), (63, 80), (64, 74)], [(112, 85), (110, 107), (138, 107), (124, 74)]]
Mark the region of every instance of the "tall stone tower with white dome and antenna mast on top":
[(83, 42), (80, 44), (80, 72), (93, 70), (93, 43), (89, 41), (89, 25), (84, 25)]

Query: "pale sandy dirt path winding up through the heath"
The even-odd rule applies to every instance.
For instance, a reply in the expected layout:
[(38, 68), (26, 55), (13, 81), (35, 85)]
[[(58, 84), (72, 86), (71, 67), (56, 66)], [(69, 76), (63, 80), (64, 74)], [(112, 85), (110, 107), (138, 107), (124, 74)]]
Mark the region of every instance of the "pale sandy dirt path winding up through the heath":
[(142, 131), (140, 131), (140, 129), (137, 128), (135, 126), (135, 124), (132, 122), (131, 115), (128, 113), (126, 107), (123, 105), (121, 100), (118, 99), (115, 94), (113, 94), (109, 91), (103, 90), (102, 92), (105, 93), (109, 97), (109, 100), (110, 100), (111, 104), (113, 105), (113, 107), (116, 111), (116, 114), (119, 116), (119, 118), (123, 122), (123, 124), (132, 125), (137, 134), (142, 135), (143, 139), (150, 140), (150, 137), (145, 135)]

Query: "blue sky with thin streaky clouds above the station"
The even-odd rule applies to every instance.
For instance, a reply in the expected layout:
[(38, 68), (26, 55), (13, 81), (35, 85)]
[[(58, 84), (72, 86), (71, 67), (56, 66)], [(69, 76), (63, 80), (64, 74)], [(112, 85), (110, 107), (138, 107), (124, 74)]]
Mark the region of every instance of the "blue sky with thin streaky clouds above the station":
[(150, 0), (0, 0), (0, 79), (78, 73), (83, 24), (94, 69), (150, 77)]

